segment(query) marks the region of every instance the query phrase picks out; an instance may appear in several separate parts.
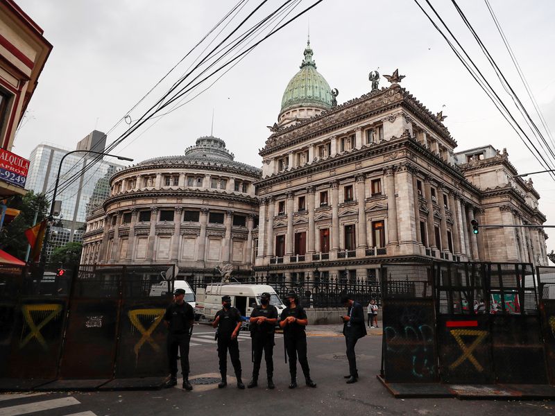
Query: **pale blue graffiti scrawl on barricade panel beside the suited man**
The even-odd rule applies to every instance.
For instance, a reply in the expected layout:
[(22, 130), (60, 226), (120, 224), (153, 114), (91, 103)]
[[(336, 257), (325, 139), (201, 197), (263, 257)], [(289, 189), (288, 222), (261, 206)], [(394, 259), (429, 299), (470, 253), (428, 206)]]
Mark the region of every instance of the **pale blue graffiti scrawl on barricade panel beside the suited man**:
[(388, 352), (411, 355), (413, 376), (422, 378), (435, 374), (436, 365), (432, 361), (434, 329), (431, 326), (406, 325), (400, 333), (393, 327), (385, 327), (384, 336)]

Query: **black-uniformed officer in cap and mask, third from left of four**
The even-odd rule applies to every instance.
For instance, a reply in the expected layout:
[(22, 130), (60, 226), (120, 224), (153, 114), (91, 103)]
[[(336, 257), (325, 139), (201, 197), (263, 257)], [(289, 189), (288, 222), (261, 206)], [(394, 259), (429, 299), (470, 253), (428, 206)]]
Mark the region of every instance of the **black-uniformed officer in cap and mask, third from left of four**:
[(273, 346), (275, 324), (278, 322), (278, 309), (270, 304), (270, 294), (267, 292), (260, 295), (260, 305), (250, 313), (250, 338), (253, 343), (253, 379), (247, 387), (253, 388), (258, 385), (258, 374), (260, 362), (262, 361), (262, 351), (266, 359), (266, 374), (268, 376), (268, 388), (273, 389)]

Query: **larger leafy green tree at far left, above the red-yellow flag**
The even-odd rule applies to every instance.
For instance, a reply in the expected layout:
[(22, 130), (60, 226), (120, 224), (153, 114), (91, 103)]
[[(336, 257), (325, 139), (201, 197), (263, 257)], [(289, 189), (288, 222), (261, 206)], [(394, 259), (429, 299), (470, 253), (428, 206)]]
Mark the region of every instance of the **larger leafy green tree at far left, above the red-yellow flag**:
[(19, 209), (20, 214), (0, 230), (0, 248), (18, 259), (25, 259), (28, 241), (25, 230), (33, 227), (37, 213), (37, 224), (49, 213), (49, 201), (43, 194), (28, 191), (24, 196), (14, 196), (8, 200), (8, 207)]

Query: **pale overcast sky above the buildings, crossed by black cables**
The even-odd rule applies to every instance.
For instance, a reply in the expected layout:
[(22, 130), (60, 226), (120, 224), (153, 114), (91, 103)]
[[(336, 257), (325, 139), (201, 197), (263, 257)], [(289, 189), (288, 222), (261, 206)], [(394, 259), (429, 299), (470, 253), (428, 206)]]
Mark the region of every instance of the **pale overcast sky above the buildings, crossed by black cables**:
[[(237, 0), (17, 0), (17, 3), (44, 29), (44, 36), (53, 44), (15, 139), (13, 151), (28, 157), (42, 142), (74, 149), (76, 142), (91, 130), (112, 129)], [(229, 33), (239, 23), (239, 17), (258, 3), (248, 1), (223, 33)], [(262, 19), (281, 3), (269, 0), (253, 17)], [(302, 0), (289, 17), (311, 3), (313, 0)], [(452, 3), (447, 0), (432, 3), (497, 91), (503, 92)], [(553, 129), (555, 2), (490, 0), (490, 4)], [(484, 0), (460, 0), (459, 6), (533, 113)], [(253, 19), (248, 26), (254, 22)], [(115, 153), (133, 157), (135, 162), (180, 155), (198, 137), (210, 135), (214, 109), (214, 135), (225, 141), (236, 160), (261, 166), (257, 149), (264, 146), (270, 133), (266, 125), (277, 121), (283, 91), (298, 71), (308, 26), (318, 71), (330, 87), (339, 89), (339, 103), (370, 91), (370, 70), (379, 68), (379, 73), (390, 74), (399, 68), (407, 76), (402, 80), (403, 87), (429, 110), (443, 110), (447, 115), (445, 125), (459, 144), (456, 151), (491, 144), (499, 150), (507, 149), (519, 173), (541, 169), (412, 0), (323, 1), (257, 46), (193, 101), (157, 119), (155, 124), (147, 123), (148, 130), (138, 130)], [(167, 83), (129, 113), (133, 121), (185, 72), (196, 55), (191, 57), (169, 76)], [(388, 86), (384, 78), (380, 86)], [(504, 92), (502, 98), (518, 114), (511, 98)], [(522, 121), (520, 117), (518, 120)], [(125, 129), (126, 124), (119, 123), (108, 141)], [(554, 180), (544, 174), (534, 175), (533, 182), (540, 192), (540, 210), (547, 215), (547, 224), (555, 224)], [(552, 234), (547, 241), (549, 251), (555, 249), (555, 232)]]

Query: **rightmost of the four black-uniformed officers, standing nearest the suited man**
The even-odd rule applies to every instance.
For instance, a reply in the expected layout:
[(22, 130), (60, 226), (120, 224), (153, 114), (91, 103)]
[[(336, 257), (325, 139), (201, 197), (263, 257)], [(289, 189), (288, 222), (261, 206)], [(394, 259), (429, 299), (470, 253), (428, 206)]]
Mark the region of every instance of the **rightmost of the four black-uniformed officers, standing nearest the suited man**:
[(283, 340), (287, 356), (289, 357), (289, 374), (291, 384), (289, 388), (297, 387), (297, 357), (305, 374), (305, 382), (309, 387), (316, 387), (316, 383), (310, 378), (310, 368), (307, 358), (307, 333), (305, 327), (308, 324), (307, 313), (299, 305), (296, 293), (290, 292), (285, 297), (287, 306), (281, 315), (280, 327), (283, 329)]

